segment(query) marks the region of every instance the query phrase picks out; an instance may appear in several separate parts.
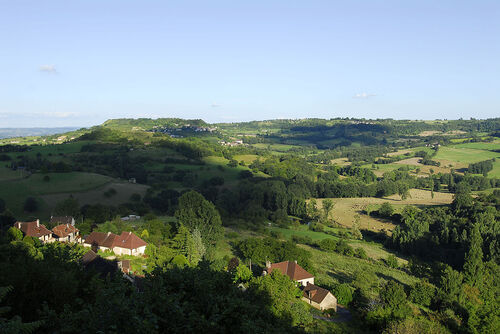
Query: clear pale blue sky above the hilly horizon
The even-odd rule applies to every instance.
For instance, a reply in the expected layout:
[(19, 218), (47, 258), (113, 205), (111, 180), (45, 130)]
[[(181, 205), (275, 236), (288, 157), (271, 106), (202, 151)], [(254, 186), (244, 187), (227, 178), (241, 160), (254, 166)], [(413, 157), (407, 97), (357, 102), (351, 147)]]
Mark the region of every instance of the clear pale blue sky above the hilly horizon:
[(0, 0), (0, 128), (499, 116), (498, 0)]

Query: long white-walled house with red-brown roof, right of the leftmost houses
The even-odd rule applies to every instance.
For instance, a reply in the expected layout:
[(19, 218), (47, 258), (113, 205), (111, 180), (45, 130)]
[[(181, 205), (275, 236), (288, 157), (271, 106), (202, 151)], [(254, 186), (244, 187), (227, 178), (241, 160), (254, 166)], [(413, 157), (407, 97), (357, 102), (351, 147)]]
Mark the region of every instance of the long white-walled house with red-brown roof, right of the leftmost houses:
[(92, 232), (85, 238), (83, 245), (95, 252), (100, 249), (113, 251), (117, 255), (143, 255), (147, 243), (132, 232), (122, 232), (120, 235)]

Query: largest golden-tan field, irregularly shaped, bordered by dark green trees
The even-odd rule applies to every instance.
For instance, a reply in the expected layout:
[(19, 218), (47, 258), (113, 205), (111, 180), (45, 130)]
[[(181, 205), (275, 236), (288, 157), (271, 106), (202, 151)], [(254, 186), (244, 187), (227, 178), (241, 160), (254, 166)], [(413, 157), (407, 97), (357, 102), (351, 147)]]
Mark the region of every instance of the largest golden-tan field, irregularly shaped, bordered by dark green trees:
[[(356, 219), (359, 219), (361, 230), (392, 231), (395, 227), (392, 221), (371, 217), (364, 212), (367, 209), (376, 209), (385, 202), (389, 202), (397, 212), (405, 205), (445, 205), (453, 201), (453, 194), (434, 192), (434, 198), (432, 198), (430, 191), (421, 189), (410, 189), (410, 196), (406, 200), (401, 200), (399, 195), (384, 198), (331, 198), (334, 206), (330, 217), (343, 227), (352, 227)], [(322, 207), (323, 200), (322, 198), (316, 199), (319, 208)]]

